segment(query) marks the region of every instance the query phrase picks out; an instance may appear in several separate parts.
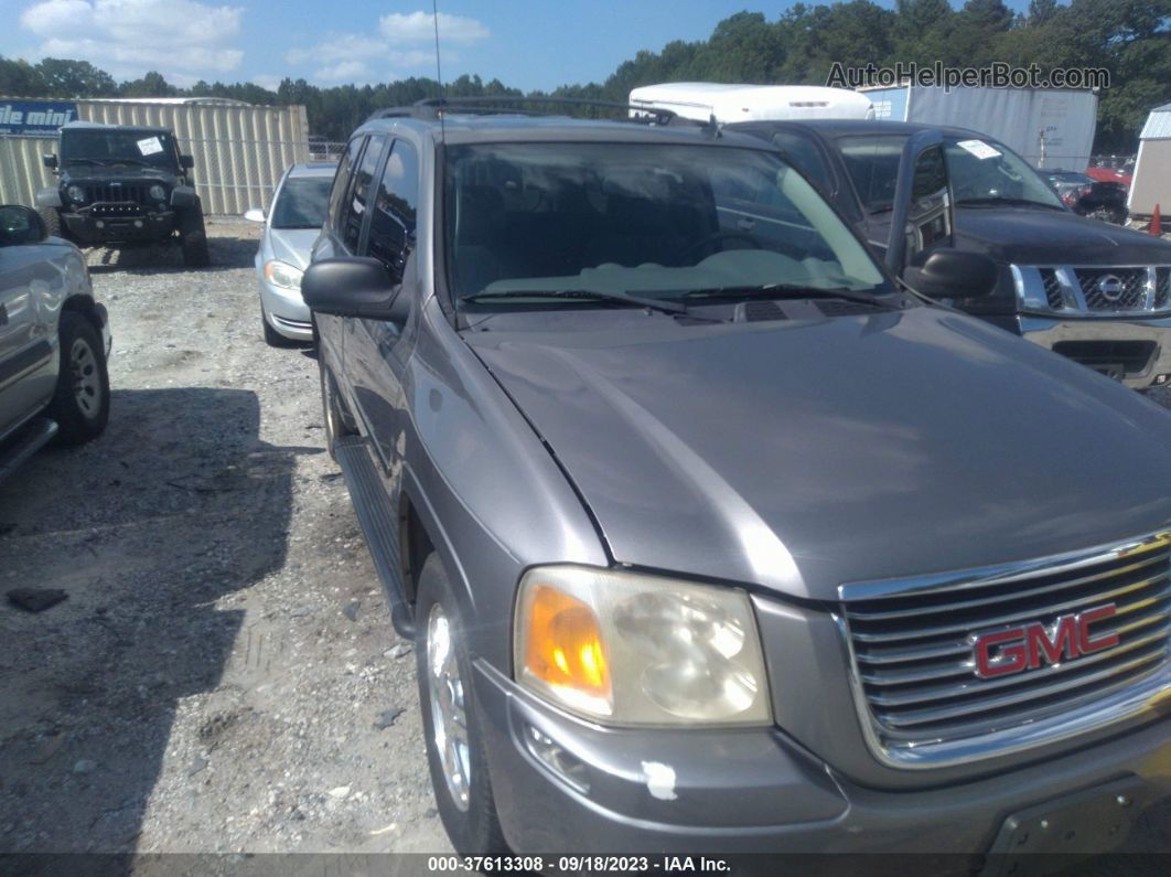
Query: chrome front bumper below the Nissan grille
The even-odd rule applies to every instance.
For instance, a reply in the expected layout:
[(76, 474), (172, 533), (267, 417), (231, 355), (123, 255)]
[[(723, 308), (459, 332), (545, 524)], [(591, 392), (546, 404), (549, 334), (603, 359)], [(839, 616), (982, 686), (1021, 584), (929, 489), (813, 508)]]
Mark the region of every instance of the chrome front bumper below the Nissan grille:
[(1020, 335), (1034, 344), (1107, 371), (1142, 390), (1171, 382), (1171, 317), (1153, 320), (1061, 320), (1018, 317)]

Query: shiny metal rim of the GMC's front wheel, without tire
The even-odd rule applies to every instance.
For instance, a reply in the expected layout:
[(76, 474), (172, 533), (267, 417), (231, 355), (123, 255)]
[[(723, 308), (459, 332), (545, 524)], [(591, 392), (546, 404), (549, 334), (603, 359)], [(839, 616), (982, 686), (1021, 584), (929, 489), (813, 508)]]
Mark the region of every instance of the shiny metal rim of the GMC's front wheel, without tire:
[(451, 624), (437, 603), (427, 618), (427, 693), (431, 701), (431, 742), (439, 755), (447, 792), (456, 807), (467, 810), (472, 780), (464, 711), (464, 683), (459, 677)]

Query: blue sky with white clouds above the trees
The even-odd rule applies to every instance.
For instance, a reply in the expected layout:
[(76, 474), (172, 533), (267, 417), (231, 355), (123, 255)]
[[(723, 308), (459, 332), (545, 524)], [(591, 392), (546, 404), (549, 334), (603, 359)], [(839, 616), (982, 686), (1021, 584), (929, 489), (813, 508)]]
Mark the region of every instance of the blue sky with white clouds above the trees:
[[(792, 5), (439, 0), (444, 78), (478, 73), (526, 90), (601, 82), (639, 49), (704, 39), (745, 8), (773, 20)], [(0, 55), (85, 60), (118, 80), (158, 70), (177, 85), (434, 76), (430, 0), (0, 0)]]

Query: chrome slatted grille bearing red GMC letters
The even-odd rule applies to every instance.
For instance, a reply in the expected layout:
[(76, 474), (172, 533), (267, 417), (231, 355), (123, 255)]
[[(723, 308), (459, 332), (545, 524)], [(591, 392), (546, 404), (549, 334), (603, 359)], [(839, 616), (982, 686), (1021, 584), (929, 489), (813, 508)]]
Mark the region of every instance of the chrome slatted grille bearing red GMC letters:
[[(1143, 680), (1171, 686), (1171, 533), (1074, 561), (975, 570), (926, 587), (879, 582), (841, 591), (862, 719), (888, 755), (1025, 726), (1035, 731), (1054, 717), (1068, 728), (1080, 708), (1100, 707)], [(1115, 614), (1094, 622), (1091, 637), (1117, 635), (1116, 644), (1059, 653), (1056, 663), (1020, 672), (977, 674), (977, 637), (1040, 623), (1048, 642), (1057, 642), (1060, 618), (1110, 604)], [(989, 653), (1027, 638), (1009, 638)]]

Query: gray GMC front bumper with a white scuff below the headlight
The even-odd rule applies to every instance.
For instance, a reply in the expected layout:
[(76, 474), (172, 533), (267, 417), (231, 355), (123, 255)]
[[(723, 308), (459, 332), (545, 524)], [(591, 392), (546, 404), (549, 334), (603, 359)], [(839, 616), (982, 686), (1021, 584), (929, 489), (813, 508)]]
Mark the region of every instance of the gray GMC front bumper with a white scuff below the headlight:
[[(982, 854), (1009, 815), (1075, 790), (1135, 777), (1152, 799), (1171, 795), (1167, 719), (1008, 774), (882, 792), (775, 728), (607, 729), (484, 662), (475, 671), (497, 808), (522, 854)], [(576, 760), (588, 790), (537, 760), (532, 728)]]

